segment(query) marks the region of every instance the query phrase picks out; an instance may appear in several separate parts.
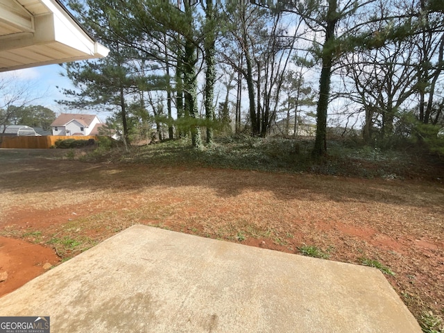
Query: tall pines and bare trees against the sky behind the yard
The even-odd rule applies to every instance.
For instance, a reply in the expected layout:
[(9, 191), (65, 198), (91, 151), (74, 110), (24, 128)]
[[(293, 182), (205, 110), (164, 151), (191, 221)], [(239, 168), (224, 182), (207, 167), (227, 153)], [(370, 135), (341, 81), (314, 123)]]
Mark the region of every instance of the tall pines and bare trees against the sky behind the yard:
[(278, 122), (288, 135), (303, 114), (315, 157), (331, 119), (368, 144), (438, 135), (441, 0), (251, 2), (69, 0), (110, 53), (65, 65), (76, 89), (60, 103), (112, 111), (127, 142), (155, 128), (199, 147), (214, 130), (266, 137)]

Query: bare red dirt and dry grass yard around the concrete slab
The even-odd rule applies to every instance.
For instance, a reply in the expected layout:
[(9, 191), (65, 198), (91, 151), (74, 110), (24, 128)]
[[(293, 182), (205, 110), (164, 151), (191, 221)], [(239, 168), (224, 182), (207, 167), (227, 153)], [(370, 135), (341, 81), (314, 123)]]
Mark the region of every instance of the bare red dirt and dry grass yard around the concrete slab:
[[(417, 318), (444, 314), (444, 185), (91, 164), (0, 149), (0, 296), (133, 224), (371, 260)], [(49, 263), (49, 264), (46, 264)], [(46, 264), (46, 265), (45, 265)]]

